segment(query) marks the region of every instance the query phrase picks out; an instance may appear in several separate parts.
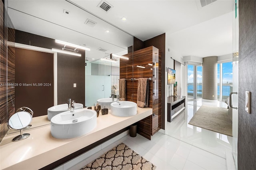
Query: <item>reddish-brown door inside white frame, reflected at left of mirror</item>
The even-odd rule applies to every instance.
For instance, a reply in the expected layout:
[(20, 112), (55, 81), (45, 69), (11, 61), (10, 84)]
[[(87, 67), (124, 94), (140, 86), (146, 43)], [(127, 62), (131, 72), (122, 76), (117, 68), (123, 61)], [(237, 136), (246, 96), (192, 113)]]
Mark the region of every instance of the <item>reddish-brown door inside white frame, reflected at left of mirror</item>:
[(33, 117), (47, 115), (54, 100), (53, 54), (16, 48), (15, 62), (15, 110), (25, 106)]

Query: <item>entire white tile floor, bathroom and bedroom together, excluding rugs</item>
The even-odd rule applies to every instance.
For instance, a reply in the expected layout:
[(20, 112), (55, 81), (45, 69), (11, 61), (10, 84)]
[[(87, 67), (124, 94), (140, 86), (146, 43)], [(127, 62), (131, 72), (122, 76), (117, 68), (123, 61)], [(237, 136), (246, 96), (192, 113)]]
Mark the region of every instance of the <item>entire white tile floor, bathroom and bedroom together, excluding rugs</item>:
[[(232, 156), (230, 154), (226, 156), (226, 153), (230, 153), (232, 149), (226, 135), (188, 125), (202, 103), (222, 105), (222, 103), (189, 101), (186, 111), (166, 126), (167, 134), (157, 132), (151, 140), (139, 134), (134, 138), (126, 135), (112, 144), (109, 142), (102, 145), (101, 150), (97, 150), (98, 152), (70, 170), (80, 169), (121, 142), (155, 164), (157, 170), (235, 170)], [(228, 161), (226, 157), (229, 157)]]

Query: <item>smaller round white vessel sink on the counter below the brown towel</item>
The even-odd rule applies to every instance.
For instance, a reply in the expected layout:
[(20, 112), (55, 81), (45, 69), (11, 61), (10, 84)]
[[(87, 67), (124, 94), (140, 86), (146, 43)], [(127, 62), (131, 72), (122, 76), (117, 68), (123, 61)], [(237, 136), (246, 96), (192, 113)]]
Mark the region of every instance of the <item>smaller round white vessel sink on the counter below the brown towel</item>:
[(113, 102), (110, 105), (111, 114), (120, 117), (129, 117), (137, 114), (137, 104), (132, 101)]

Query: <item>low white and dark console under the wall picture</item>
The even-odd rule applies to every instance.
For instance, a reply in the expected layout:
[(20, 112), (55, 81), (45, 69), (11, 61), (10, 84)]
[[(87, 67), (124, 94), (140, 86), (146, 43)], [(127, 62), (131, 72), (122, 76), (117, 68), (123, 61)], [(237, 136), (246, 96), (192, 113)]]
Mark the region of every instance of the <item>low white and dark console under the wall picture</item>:
[(174, 117), (185, 109), (185, 96), (167, 97), (167, 121), (171, 122)]

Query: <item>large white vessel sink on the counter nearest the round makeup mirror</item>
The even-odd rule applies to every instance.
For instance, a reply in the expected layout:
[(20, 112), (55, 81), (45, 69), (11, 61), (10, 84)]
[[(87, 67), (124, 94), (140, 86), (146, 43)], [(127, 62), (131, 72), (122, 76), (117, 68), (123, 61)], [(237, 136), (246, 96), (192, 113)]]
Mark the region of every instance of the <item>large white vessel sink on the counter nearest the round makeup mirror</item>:
[(51, 133), (54, 138), (68, 139), (82, 136), (97, 125), (97, 113), (91, 109), (66, 111), (51, 119)]

